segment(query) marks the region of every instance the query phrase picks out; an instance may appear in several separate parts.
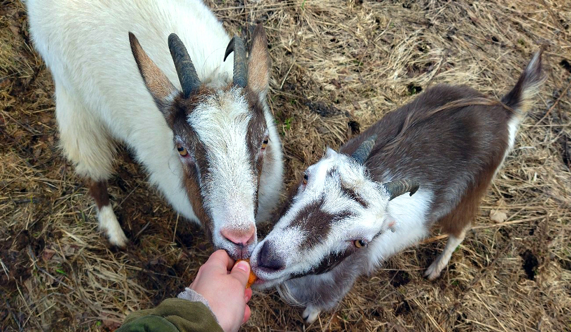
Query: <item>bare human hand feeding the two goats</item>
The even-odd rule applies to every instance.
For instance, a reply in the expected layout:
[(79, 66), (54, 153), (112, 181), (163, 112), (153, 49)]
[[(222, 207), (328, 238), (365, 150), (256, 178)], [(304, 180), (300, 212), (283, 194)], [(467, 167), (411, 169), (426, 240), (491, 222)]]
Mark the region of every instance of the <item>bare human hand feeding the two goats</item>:
[(220, 249), (210, 255), (200, 266), (190, 289), (208, 301), (212, 313), (225, 332), (236, 332), (250, 318), (246, 304), (252, 297), (252, 289), (246, 289), (250, 276), (250, 264), (234, 260)]

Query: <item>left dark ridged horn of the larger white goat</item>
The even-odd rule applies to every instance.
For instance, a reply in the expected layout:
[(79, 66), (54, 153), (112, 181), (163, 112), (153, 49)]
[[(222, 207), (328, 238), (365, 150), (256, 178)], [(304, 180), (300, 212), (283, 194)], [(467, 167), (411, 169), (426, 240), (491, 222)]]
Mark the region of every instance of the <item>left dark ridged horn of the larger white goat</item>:
[(198, 91), (200, 87), (200, 79), (198, 79), (194, 64), (192, 64), (186, 47), (176, 34), (168, 36), (168, 49), (171, 50), (172, 61), (175, 63), (176, 75), (179, 76), (184, 98), (188, 98), (192, 92)]

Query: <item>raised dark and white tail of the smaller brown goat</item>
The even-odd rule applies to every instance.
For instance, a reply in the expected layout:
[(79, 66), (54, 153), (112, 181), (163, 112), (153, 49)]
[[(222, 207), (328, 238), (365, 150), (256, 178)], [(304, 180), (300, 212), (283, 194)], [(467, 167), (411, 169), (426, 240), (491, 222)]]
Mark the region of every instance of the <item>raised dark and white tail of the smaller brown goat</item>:
[(545, 75), (542, 71), (541, 55), (544, 47), (533, 56), (532, 60), (525, 67), (524, 72), (521, 73), (520, 78), (517, 80), (516, 86), (512, 88), (501, 102), (518, 111), (520, 114), (525, 114), (532, 105), (533, 97), (539, 91), (541, 84), (545, 81)]

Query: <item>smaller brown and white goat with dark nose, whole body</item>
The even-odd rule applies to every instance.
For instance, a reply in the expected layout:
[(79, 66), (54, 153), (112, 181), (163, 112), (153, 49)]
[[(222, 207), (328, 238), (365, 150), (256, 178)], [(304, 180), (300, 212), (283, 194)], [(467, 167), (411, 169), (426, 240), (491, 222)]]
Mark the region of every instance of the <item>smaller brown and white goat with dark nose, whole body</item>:
[(327, 148), (254, 249), (254, 287), (277, 286), (283, 298), (307, 306), (303, 318), (311, 323), (357, 277), (428, 236), (433, 224), (449, 236), (425, 273), (439, 277), (543, 79), (540, 51), (501, 102), (466, 86), (436, 86), (339, 152)]

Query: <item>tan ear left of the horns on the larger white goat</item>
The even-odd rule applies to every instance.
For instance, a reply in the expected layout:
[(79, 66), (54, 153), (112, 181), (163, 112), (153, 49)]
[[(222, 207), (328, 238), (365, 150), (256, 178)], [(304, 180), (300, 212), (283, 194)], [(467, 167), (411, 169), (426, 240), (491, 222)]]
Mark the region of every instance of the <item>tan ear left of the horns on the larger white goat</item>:
[(155, 99), (159, 110), (166, 116), (164, 112), (172, 104), (173, 97), (178, 95), (179, 91), (172, 85), (159, 67), (152, 62), (151, 58), (148, 57), (134, 34), (129, 33), (129, 41), (131, 42), (131, 51), (135, 57), (135, 62), (143, 77), (144, 85), (151, 92), (151, 96)]

